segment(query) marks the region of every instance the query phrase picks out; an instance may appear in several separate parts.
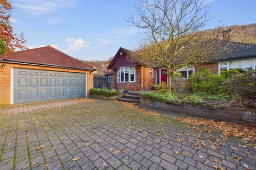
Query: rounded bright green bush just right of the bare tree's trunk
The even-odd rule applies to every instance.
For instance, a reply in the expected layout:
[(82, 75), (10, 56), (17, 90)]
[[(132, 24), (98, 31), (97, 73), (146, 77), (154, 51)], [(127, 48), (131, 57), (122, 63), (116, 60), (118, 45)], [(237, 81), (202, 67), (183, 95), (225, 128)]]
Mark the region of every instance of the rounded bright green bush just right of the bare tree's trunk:
[(203, 92), (207, 94), (220, 94), (221, 83), (224, 77), (218, 74), (212, 74), (209, 69), (200, 69), (188, 79), (193, 92)]

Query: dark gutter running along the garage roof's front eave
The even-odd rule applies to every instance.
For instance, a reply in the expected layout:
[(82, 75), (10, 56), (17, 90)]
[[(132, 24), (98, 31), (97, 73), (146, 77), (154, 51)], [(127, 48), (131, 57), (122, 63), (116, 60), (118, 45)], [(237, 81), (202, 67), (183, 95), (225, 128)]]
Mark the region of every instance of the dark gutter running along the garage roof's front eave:
[(62, 68), (62, 69), (74, 69), (74, 70), (85, 70), (85, 71), (97, 71), (95, 69), (84, 69), (79, 67), (71, 67), (71, 66), (62, 66), (62, 65), (55, 65), (55, 64), (38, 64), (38, 63), (32, 63), (32, 62), (21, 62), (21, 61), (15, 61), (15, 60), (8, 60), (3, 58), (2, 63), (13, 63), (13, 64), (26, 64), (26, 65), (36, 65), (36, 66), (46, 66), (46, 67), (55, 67), (55, 68)]

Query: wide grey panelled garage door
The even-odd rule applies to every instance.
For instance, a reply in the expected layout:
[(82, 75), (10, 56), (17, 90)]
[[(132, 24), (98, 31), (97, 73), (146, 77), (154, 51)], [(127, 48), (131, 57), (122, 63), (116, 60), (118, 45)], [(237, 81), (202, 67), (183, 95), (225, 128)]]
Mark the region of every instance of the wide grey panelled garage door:
[(14, 104), (85, 97), (83, 73), (14, 69)]

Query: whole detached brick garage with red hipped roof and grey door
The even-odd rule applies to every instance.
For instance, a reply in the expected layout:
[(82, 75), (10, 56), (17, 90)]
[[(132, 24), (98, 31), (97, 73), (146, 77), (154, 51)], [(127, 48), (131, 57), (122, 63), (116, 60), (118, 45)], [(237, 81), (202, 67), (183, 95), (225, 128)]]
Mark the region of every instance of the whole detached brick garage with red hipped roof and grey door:
[(93, 67), (51, 46), (0, 55), (0, 104), (87, 97)]

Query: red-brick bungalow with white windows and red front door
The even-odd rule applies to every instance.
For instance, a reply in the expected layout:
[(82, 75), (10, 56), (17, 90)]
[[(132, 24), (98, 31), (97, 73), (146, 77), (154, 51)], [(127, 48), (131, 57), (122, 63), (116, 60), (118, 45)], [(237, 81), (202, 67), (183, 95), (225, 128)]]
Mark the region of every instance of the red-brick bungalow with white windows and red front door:
[[(256, 45), (247, 44), (247, 48), (235, 50), (218, 57), (218, 60), (211, 63), (204, 63), (190, 68), (180, 69), (181, 78), (175, 82), (187, 79), (191, 74), (205, 67), (212, 73), (219, 73), (222, 70), (241, 69), (242, 71), (255, 70), (256, 66)], [(120, 47), (107, 69), (113, 70), (113, 81), (115, 89), (127, 89), (133, 91), (150, 90), (150, 84), (160, 82), (167, 83), (166, 68), (150, 68), (143, 64), (133, 62), (129, 59), (132, 51)]]

